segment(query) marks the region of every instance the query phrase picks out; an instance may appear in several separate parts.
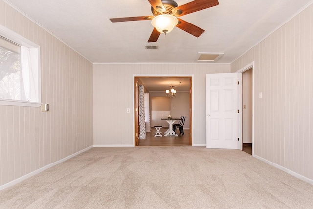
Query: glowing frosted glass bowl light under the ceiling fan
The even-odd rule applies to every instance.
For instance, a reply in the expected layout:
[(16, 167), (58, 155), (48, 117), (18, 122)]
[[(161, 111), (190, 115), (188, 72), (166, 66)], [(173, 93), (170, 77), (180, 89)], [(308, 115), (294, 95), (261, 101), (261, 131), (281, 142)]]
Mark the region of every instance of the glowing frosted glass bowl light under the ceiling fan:
[(178, 20), (173, 15), (163, 14), (154, 17), (151, 21), (152, 26), (160, 33), (169, 33), (177, 25)]

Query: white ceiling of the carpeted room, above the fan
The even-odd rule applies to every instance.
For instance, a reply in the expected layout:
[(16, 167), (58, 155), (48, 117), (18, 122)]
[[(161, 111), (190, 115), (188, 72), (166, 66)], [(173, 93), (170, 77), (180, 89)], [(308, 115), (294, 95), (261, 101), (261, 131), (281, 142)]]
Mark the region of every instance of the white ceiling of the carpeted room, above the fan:
[[(112, 23), (109, 18), (152, 15), (148, 0), (4, 0), (93, 63), (192, 63), (199, 52), (224, 53), (231, 63), (313, 0), (219, 0), (180, 17), (205, 32), (196, 38), (174, 28), (147, 43), (150, 20)], [(176, 0), (183, 5), (191, 0)], [(159, 49), (145, 49), (157, 44)]]

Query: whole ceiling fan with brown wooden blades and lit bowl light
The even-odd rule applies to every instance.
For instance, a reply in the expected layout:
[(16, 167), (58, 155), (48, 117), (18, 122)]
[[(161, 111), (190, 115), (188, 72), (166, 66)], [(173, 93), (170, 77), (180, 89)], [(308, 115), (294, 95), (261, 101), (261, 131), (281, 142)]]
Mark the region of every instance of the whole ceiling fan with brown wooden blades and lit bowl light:
[[(180, 16), (207, 9), (219, 4), (218, 0), (194, 0), (178, 6), (174, 0), (148, 0), (151, 4), (151, 11), (154, 16), (139, 16), (126, 18), (110, 18), (111, 22), (126, 22), (152, 20), (154, 29), (148, 42), (156, 42), (161, 33), (169, 33), (176, 26), (193, 36), (199, 37), (204, 30), (200, 27), (181, 20)], [(166, 19), (166, 20), (164, 20)]]

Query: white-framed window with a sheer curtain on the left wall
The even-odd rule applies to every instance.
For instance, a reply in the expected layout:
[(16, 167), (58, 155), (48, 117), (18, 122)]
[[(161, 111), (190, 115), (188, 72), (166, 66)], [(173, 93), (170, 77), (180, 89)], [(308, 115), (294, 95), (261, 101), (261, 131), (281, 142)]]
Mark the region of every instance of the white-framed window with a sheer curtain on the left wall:
[(39, 107), (40, 47), (0, 25), (0, 105)]

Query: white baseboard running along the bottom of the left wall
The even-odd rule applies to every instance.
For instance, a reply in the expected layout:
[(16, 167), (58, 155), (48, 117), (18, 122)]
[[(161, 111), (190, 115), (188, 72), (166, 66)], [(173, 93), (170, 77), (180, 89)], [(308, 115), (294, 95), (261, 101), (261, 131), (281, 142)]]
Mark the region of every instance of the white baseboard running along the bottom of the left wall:
[(16, 184), (18, 184), (18, 183), (24, 181), (25, 179), (28, 179), (29, 177), (35, 176), (36, 174), (38, 174), (38, 173), (40, 173), (40, 172), (43, 172), (44, 170), (46, 170), (46, 169), (48, 169), (48, 168), (50, 168), (50, 167), (53, 167), (54, 165), (57, 165), (57, 164), (59, 164), (59, 163), (62, 163), (62, 162), (66, 161), (66, 160), (68, 160), (68, 159), (70, 159), (70, 158), (72, 158), (72, 157), (74, 157), (74, 156), (76, 156), (76, 155), (78, 155), (78, 154), (81, 154), (81, 153), (83, 153), (83, 152), (85, 152), (85, 151), (91, 149), (92, 147), (93, 147), (93, 146), (89, 146), (89, 147), (87, 147), (87, 148), (85, 148), (85, 149), (83, 149), (83, 150), (81, 150), (81, 151), (78, 151), (78, 152), (76, 152), (76, 153), (74, 153), (74, 154), (72, 154), (72, 155), (67, 156), (66, 158), (63, 158), (63, 159), (61, 159), (61, 160), (59, 160), (59, 161), (56, 161), (56, 162), (51, 163), (51, 164), (48, 164), (48, 165), (46, 165), (46, 166), (44, 166), (44, 167), (42, 167), (42, 168), (39, 168), (39, 169), (37, 169), (37, 170), (35, 170), (35, 171), (31, 172), (31, 173), (28, 173), (28, 174), (26, 174), (26, 175), (24, 175), (24, 176), (21, 176), (20, 178), (17, 178), (17, 179), (15, 179), (15, 180), (11, 181), (11, 182), (8, 182), (8, 183), (6, 183), (6, 184), (4, 184), (4, 185), (1, 185), (1, 186), (0, 186), (0, 191), (3, 190), (3, 189), (8, 188), (8, 187), (10, 187), (10, 186), (16, 185)]

